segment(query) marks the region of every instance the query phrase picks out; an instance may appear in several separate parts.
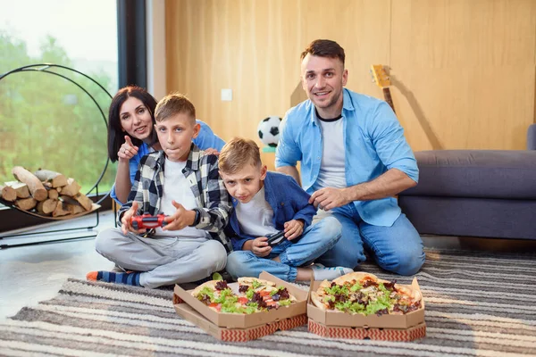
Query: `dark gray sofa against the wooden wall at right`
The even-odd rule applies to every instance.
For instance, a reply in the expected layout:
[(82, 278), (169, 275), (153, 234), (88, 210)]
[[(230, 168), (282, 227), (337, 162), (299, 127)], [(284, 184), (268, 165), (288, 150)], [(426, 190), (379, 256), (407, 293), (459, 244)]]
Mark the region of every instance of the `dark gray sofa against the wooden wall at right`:
[(536, 239), (536, 124), (527, 149), (416, 152), (398, 204), (420, 234)]

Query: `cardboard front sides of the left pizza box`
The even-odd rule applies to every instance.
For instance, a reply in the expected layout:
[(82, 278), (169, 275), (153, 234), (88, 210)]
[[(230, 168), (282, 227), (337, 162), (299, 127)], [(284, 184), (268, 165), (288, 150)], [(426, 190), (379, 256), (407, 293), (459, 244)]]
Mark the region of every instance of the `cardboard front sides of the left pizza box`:
[(175, 303), (175, 311), (184, 320), (188, 320), (207, 334), (222, 341), (246, 342), (266, 335), (272, 335), (277, 330), (297, 328), (307, 323), (307, 315), (301, 314), (287, 319), (268, 322), (251, 328), (221, 328), (207, 320), (195, 311), (188, 303)]

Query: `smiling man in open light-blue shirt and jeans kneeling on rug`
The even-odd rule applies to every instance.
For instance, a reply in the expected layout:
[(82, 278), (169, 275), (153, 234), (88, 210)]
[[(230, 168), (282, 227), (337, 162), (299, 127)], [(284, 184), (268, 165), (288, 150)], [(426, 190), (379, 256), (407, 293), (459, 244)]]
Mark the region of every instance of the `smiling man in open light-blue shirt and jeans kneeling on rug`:
[(413, 275), (423, 265), (423, 241), (393, 195), (418, 180), (404, 130), (385, 102), (344, 86), (344, 49), (315, 40), (301, 54), (308, 100), (281, 123), (276, 170), (299, 181), (319, 208), (342, 224), (337, 245), (316, 262), (356, 267), (370, 252), (381, 268)]

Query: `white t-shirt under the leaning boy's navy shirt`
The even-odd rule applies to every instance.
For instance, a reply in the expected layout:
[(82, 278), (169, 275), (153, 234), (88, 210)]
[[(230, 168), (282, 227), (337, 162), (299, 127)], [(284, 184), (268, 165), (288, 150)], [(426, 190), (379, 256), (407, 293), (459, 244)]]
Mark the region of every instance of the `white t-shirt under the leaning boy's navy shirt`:
[(264, 186), (248, 203), (236, 206), (240, 230), (253, 237), (266, 237), (278, 230), (273, 227), (273, 210), (264, 198)]

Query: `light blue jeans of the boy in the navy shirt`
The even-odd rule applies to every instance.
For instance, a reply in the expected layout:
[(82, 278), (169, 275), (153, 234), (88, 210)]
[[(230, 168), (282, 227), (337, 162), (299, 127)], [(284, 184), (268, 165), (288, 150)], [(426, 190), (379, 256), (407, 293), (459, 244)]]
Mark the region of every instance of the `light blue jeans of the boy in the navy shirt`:
[[(337, 219), (326, 217), (314, 226), (306, 228), (296, 242), (285, 240), (272, 247), (265, 257), (258, 257), (251, 251), (234, 251), (227, 257), (226, 270), (235, 280), (240, 277), (258, 278), (261, 272), (286, 281), (295, 281), (297, 267), (309, 264), (329, 251), (341, 236), (341, 226)], [(281, 262), (272, 261), (279, 256)]]

